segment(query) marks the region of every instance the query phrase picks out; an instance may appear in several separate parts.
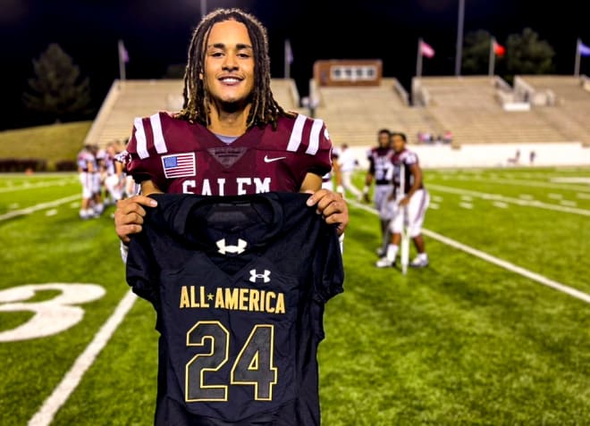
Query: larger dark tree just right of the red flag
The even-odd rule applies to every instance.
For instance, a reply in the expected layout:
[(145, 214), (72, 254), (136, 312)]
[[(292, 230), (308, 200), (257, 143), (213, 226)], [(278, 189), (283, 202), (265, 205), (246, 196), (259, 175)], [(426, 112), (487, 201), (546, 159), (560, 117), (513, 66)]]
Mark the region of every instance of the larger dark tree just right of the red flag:
[(553, 47), (530, 28), (510, 34), (506, 42), (506, 68), (510, 74), (547, 74), (554, 70)]

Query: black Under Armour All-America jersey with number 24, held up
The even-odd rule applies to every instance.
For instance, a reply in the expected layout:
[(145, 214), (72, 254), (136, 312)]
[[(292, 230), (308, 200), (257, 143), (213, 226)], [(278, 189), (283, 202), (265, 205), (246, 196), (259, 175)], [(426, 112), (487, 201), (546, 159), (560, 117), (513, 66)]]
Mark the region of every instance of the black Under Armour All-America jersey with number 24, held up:
[(154, 195), (126, 277), (156, 307), (157, 425), (320, 424), (316, 350), (342, 291), (308, 195)]

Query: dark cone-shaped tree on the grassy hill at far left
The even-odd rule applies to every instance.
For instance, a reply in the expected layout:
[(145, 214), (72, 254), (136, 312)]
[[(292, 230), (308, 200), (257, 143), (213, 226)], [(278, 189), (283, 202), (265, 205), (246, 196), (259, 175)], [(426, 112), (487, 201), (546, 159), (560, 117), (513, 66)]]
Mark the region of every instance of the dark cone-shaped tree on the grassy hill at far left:
[(61, 46), (50, 44), (38, 60), (33, 60), (33, 71), (30, 92), (22, 96), (27, 108), (53, 121), (72, 120), (92, 112), (89, 79), (80, 77), (80, 67)]

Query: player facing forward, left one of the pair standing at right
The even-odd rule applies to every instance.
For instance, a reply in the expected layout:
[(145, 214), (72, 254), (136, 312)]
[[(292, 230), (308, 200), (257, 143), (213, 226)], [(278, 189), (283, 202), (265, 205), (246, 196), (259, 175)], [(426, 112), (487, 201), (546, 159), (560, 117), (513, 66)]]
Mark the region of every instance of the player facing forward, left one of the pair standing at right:
[(377, 146), (371, 148), (367, 155), (369, 167), (365, 176), (363, 197), (370, 203), (369, 191), (375, 182), (373, 199), (375, 209), (379, 213), (379, 223), (382, 236), (382, 244), (377, 248), (377, 255), (384, 256), (387, 245), (391, 239), (389, 221), (392, 220), (390, 209), (386, 208), (387, 197), (392, 194), (393, 163), (392, 163), (392, 132), (389, 129), (381, 129), (377, 133)]

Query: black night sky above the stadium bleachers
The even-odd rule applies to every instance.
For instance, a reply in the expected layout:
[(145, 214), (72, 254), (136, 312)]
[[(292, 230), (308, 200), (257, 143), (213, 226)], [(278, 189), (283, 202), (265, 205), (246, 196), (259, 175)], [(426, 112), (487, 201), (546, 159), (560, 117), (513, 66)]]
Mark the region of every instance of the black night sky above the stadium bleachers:
[[(417, 38), (434, 47), (424, 75), (452, 75), (459, 0), (207, 0), (207, 9), (241, 7), (268, 29), (272, 72), (282, 77), (283, 40), (291, 39), (291, 77), (301, 95), (317, 59), (379, 58), (384, 75), (409, 89), (416, 69)], [(351, 7), (349, 4), (353, 4)], [(582, 6), (582, 4), (588, 4)], [(576, 38), (590, 44), (590, 2), (466, 0), (465, 32), (490, 31), (503, 44), (530, 27), (555, 49), (558, 73), (573, 73)], [(586, 10), (583, 9), (586, 7)], [(167, 65), (185, 63), (199, 0), (0, 0), (0, 129), (38, 123), (21, 106), (32, 76), (31, 60), (58, 43), (90, 79), (98, 106), (118, 78), (117, 40), (130, 55), (128, 79), (158, 79)], [(582, 72), (590, 73), (590, 60)]]

